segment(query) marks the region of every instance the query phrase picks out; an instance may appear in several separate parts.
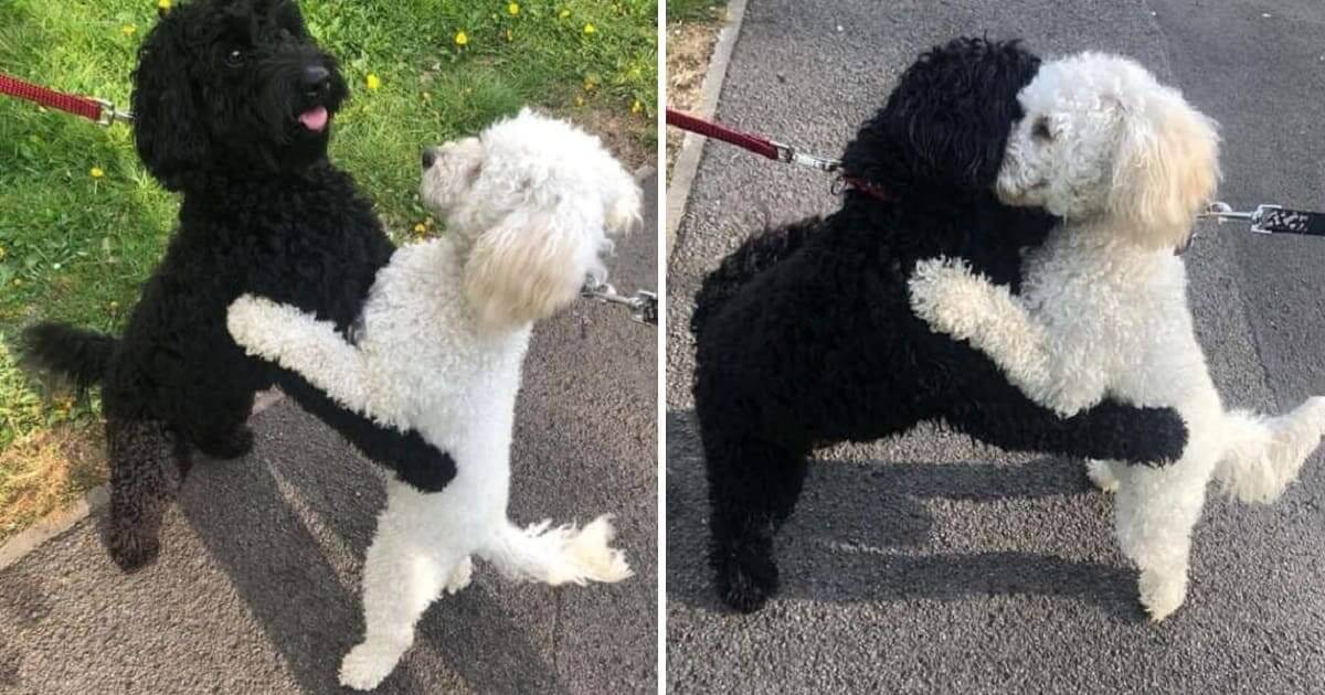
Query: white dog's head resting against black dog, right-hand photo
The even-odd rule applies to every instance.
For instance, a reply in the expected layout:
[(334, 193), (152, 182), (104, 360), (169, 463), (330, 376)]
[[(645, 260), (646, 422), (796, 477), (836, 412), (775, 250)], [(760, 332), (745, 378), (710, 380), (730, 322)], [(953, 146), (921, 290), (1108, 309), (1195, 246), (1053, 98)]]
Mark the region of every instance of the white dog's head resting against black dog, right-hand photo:
[[(1018, 95), (998, 195), (1068, 220), (1108, 217), (1146, 248), (1183, 245), (1219, 184), (1215, 122), (1136, 62), (1047, 62)], [(1116, 222), (1116, 224), (1114, 224)]]

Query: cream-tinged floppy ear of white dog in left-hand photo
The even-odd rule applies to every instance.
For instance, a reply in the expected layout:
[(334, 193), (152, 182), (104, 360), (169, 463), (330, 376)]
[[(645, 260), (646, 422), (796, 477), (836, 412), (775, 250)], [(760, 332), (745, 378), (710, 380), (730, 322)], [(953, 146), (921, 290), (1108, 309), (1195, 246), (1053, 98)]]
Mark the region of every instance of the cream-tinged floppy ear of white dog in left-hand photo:
[(583, 234), (556, 214), (514, 212), (474, 241), (465, 297), (489, 328), (542, 319), (579, 297), (595, 258)]

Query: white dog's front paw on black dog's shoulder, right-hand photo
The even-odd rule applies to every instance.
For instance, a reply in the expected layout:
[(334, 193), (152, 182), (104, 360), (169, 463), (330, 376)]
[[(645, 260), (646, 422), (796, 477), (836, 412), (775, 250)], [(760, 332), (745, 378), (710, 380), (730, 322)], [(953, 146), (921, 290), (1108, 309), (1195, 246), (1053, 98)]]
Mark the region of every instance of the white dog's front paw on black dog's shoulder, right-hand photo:
[(935, 331), (953, 338), (969, 338), (975, 330), (975, 319), (988, 312), (992, 285), (971, 273), (961, 258), (921, 261), (906, 285), (912, 311)]

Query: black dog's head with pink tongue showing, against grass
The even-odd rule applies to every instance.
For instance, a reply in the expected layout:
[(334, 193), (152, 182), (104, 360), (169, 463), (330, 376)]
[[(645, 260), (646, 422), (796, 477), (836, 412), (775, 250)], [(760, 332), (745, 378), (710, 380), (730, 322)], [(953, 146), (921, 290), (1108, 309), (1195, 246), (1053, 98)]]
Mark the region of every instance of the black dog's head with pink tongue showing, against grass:
[(293, 0), (197, 0), (139, 50), (134, 139), (172, 191), (211, 172), (295, 171), (326, 155), (347, 93)]

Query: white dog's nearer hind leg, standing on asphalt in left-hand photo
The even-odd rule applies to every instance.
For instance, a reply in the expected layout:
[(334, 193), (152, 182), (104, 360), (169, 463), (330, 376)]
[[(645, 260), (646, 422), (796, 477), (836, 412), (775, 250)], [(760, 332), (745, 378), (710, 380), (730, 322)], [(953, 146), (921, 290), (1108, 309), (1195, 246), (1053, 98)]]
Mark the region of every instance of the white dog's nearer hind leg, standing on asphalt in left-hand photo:
[(342, 686), (378, 687), (413, 643), (419, 618), (462, 569), (466, 551), (427, 523), (431, 496), (387, 483), (387, 508), (363, 568), (364, 637), (341, 662)]

